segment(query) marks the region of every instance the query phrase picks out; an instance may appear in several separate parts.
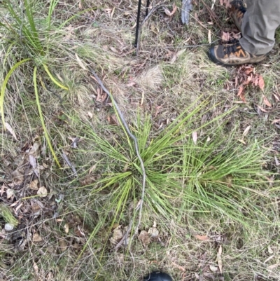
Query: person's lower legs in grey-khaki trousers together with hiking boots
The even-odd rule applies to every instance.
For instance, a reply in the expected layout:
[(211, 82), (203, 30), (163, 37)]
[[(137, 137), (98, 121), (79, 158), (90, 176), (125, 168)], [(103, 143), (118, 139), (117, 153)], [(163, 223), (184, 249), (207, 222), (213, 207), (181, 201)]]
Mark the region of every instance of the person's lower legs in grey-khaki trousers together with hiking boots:
[(216, 64), (261, 62), (274, 46), (275, 30), (280, 25), (280, 0), (246, 0), (247, 8), (241, 8), (241, 2), (232, 2), (235, 6), (231, 16), (243, 37), (237, 42), (211, 46), (209, 57)]

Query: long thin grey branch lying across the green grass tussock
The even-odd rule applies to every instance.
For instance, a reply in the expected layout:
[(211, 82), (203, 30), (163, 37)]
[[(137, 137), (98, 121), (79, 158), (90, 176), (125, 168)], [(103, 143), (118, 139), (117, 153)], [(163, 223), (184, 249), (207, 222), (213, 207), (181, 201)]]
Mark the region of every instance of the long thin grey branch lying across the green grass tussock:
[[(116, 101), (113, 98), (113, 95), (111, 94), (111, 92), (109, 92), (109, 90), (106, 89), (106, 87), (104, 86), (104, 84), (102, 83), (101, 79), (99, 78), (99, 76), (97, 76), (97, 74), (90, 69), (90, 72), (92, 73), (92, 75), (94, 76), (94, 78), (96, 79), (97, 83), (99, 83), (99, 85), (101, 86), (102, 90), (104, 90), (104, 92), (106, 92), (106, 94), (111, 98), (112, 103), (114, 104), (116, 111), (118, 112), (118, 116), (120, 117), (120, 121), (123, 123), (125, 130), (127, 131), (127, 134), (130, 135), (130, 137), (132, 138), (133, 142), (134, 142), (134, 148), (135, 151), (137, 153), (137, 158), (140, 161), (140, 165), (141, 165), (141, 170), (142, 170), (142, 192), (141, 192), (141, 199), (139, 201), (139, 204), (137, 205), (137, 207), (135, 208), (135, 211), (137, 212), (137, 210), (139, 211), (139, 219), (138, 219), (138, 223), (137, 226), (135, 228), (134, 234), (132, 236), (132, 240), (134, 238), (134, 236), (137, 234), (137, 231), (139, 229), (139, 226), (141, 224), (141, 217), (142, 217), (142, 209), (143, 209), (143, 203), (144, 203), (144, 196), (145, 196), (145, 187), (146, 187), (146, 170), (145, 170), (145, 166), (144, 166), (144, 161), (141, 158), (140, 152), (139, 152), (139, 146), (138, 146), (138, 142), (137, 142), (137, 137), (135, 137), (132, 132), (130, 131), (130, 128), (127, 124), (127, 121), (125, 121), (125, 117), (123, 116), (122, 111), (120, 110), (120, 107), (118, 107), (118, 104), (116, 103)], [(132, 222), (133, 219), (130, 221), (130, 227), (127, 228), (127, 232), (125, 233), (125, 235), (123, 236), (122, 240), (127, 239), (131, 229), (132, 229)], [(118, 247), (120, 247), (122, 244), (120, 244), (120, 242), (118, 243), (118, 245), (116, 245), (115, 249), (118, 249)]]

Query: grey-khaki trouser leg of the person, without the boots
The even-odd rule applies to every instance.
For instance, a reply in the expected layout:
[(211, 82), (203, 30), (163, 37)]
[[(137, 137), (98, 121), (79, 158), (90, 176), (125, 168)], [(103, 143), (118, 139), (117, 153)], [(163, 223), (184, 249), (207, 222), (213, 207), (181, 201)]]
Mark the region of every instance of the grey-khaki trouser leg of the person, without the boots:
[(251, 55), (264, 55), (274, 46), (280, 25), (280, 0), (246, 0), (240, 45)]

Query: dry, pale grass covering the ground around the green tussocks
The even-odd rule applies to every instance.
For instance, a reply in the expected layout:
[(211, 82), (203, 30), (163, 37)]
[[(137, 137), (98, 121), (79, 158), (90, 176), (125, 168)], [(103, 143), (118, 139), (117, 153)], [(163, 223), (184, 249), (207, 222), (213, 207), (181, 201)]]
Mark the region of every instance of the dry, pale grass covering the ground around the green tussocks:
[[(179, 6), (181, 1), (177, 2)], [(237, 89), (225, 90), (224, 85), (232, 78), (235, 69), (225, 69), (209, 62), (207, 47), (186, 48), (174, 63), (170, 62), (184, 47), (207, 43), (209, 29), (214, 34), (214, 39), (218, 38), (215, 22), (214, 25), (207, 24), (209, 13), (202, 2), (196, 2), (193, 15), (197, 13), (204, 26), (197, 23), (193, 17), (190, 25), (183, 27), (179, 22), (179, 12), (173, 18), (168, 18), (162, 9), (159, 9), (142, 29), (137, 57), (133, 46), (136, 0), (59, 2), (55, 22), (62, 22), (82, 9), (97, 8), (81, 14), (63, 27), (59, 31), (60, 41), (49, 42), (54, 52), (50, 53), (50, 57), (56, 57), (54, 67), (50, 68), (69, 86), (68, 92), (50, 86), (50, 90), (62, 97), (62, 104), (59, 104), (59, 100), (51, 92), (41, 90), (40, 96), (46, 125), (51, 132), (55, 149), (63, 149), (68, 153), (71, 162), (77, 166), (79, 177), (73, 177), (71, 169), (62, 159), (62, 170), (57, 170), (50, 160), (49, 152), (43, 153), (46, 144), (41, 143), (40, 161), (42, 165), (45, 163), (45, 168), (41, 171), (41, 185), (45, 185), (48, 191), (52, 192), (52, 197), (50, 200), (40, 199), (43, 205), (42, 213), (40, 217), (34, 218), (31, 205), (34, 205), (34, 199), (38, 198), (22, 200), (22, 197), (26, 196), (22, 196), (22, 193), (27, 192), (26, 185), (34, 180), (34, 175), (28, 174), (23, 183), (14, 186), (20, 202), (24, 202), (22, 209), (15, 212), (15, 216), (21, 214), (28, 219), (25, 226), (28, 247), (25, 251), (14, 254), (13, 245), (1, 240), (0, 235), (0, 279), (128, 280), (130, 277), (130, 280), (136, 281), (148, 271), (160, 269), (170, 273), (174, 280), (182, 281), (280, 280), (279, 197), (273, 192), (274, 197), (270, 200), (264, 198), (263, 202), (256, 204), (267, 212), (269, 221), (274, 221), (274, 224), (253, 221), (250, 228), (244, 228), (228, 217), (216, 217), (211, 213), (200, 214), (193, 210), (186, 213), (183, 219), (174, 217), (164, 221), (159, 214), (151, 216), (148, 205), (144, 205), (141, 228), (148, 231), (156, 221), (160, 231), (160, 242), (153, 242), (144, 247), (135, 238), (133, 256), (125, 249), (113, 252), (108, 250), (108, 241), (104, 238), (109, 235), (108, 229), (102, 228), (95, 235), (94, 242), (91, 240), (85, 252), (79, 256), (94, 226), (102, 218), (103, 203), (108, 195), (104, 193), (104, 201), (95, 201), (88, 196), (87, 189), (73, 189), (74, 186), (87, 184), (87, 181), (94, 181), (88, 172), (90, 167), (97, 164), (98, 159), (96, 160), (94, 144), (90, 147), (82, 146), (85, 151), (88, 149), (89, 153), (84, 153), (83, 149), (78, 153), (71, 149), (71, 138), (77, 135), (86, 137), (85, 125), (91, 126), (92, 130), (100, 132), (112, 141), (116, 141), (118, 135), (109, 132), (106, 127), (109, 123), (108, 116), (113, 114), (112, 107), (97, 101), (99, 87), (88, 73), (80, 69), (75, 53), (84, 61), (90, 61), (90, 67), (98, 71), (106, 87), (116, 97), (127, 121), (133, 123), (139, 112), (142, 117), (145, 114), (152, 116), (155, 135), (198, 97), (210, 97), (211, 111), (205, 116), (207, 120), (237, 107), (226, 120), (219, 121), (228, 123), (228, 132), (224, 132), (225, 135), (230, 134), (232, 128), (238, 128), (235, 138), (242, 139), (244, 129), (251, 125), (250, 133), (244, 138), (246, 142), (264, 139), (268, 151), (277, 137), (280, 142), (279, 128), (271, 124), (274, 119), (280, 118), (280, 103), (272, 95), (279, 92), (279, 46), (274, 48), (264, 64), (256, 67), (256, 71), (264, 76), (267, 85), (264, 93), (255, 88), (248, 89), (248, 104), (239, 103)], [(210, 4), (210, 1), (205, 2)], [(153, 5), (158, 3), (160, 1), (152, 1)], [(172, 4), (173, 2), (169, 1), (167, 6), (171, 8)], [(218, 22), (223, 24), (226, 13), (218, 1), (215, 4), (215, 12), (219, 16)], [(41, 13), (43, 14), (43, 11)], [(226, 22), (223, 26), (228, 25), (229, 22)], [(57, 50), (56, 54), (54, 50)], [(1, 62), (4, 56), (5, 53), (1, 50)], [(12, 65), (13, 60), (9, 64)], [(4, 75), (5, 69), (2, 69), (1, 80)], [(20, 159), (25, 157), (22, 147), (32, 144), (36, 135), (43, 136), (29, 77), (30, 69), (25, 73), (17, 70), (10, 81), (10, 88), (6, 91), (6, 122), (15, 130), (18, 142), (13, 140), (9, 132), (1, 130), (0, 158), (8, 160), (9, 163), (5, 164), (2, 161), (0, 164), (3, 182), (6, 179), (8, 181), (13, 170), (22, 165), (19, 163)], [(262, 102), (262, 94), (273, 103), (273, 110), (258, 114), (255, 107)], [(219, 123), (214, 125), (218, 126)], [(206, 132), (202, 132), (203, 134)], [(83, 142), (82, 139), (81, 145)], [(277, 145), (279, 144), (274, 146)], [(267, 153), (267, 158), (279, 158), (279, 150), (276, 150)], [(267, 168), (275, 171), (275, 161), (272, 160)], [(98, 171), (97, 165), (95, 179), (98, 177)], [(276, 177), (279, 176), (275, 175), (274, 180)], [(278, 189), (278, 186), (272, 187), (275, 191)], [(27, 195), (34, 196), (34, 193)], [(62, 198), (62, 201), (57, 203), (55, 199), (59, 198)], [(18, 199), (15, 198), (16, 200)], [(12, 203), (6, 198), (3, 198), (3, 202), (8, 205)], [(48, 211), (49, 204), (55, 205), (53, 212)], [(58, 214), (58, 217), (54, 218), (54, 214)], [(65, 232), (65, 224), (69, 224), (69, 233)], [(77, 226), (83, 227), (85, 237), (77, 235)], [(31, 236), (28, 236), (30, 233), (39, 233), (42, 241), (34, 242)], [(202, 241), (197, 239), (196, 235), (207, 235), (209, 240)], [(217, 252), (220, 246), (223, 248), (223, 273), (214, 273), (209, 266), (217, 267)], [(102, 252), (104, 247), (106, 251)], [(6, 261), (3, 262), (5, 259), (8, 259), (8, 267), (5, 267)]]

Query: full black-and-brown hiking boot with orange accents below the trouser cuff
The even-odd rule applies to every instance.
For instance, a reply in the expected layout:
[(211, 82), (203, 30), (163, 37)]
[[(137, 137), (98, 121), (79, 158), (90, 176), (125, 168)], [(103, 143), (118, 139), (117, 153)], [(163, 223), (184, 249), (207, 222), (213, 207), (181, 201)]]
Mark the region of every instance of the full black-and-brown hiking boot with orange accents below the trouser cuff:
[(238, 40), (234, 40), (229, 43), (211, 46), (209, 57), (216, 64), (223, 65), (224, 67), (233, 67), (240, 64), (261, 62), (265, 60), (266, 55), (251, 55), (241, 47)]

